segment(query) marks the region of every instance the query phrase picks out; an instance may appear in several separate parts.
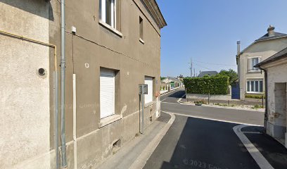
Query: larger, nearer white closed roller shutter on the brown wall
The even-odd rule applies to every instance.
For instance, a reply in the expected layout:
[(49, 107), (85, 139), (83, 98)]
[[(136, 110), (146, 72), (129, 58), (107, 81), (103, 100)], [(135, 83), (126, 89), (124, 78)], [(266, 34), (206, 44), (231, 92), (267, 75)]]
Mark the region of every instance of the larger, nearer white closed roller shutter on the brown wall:
[(100, 75), (101, 118), (115, 114), (115, 72), (101, 70)]

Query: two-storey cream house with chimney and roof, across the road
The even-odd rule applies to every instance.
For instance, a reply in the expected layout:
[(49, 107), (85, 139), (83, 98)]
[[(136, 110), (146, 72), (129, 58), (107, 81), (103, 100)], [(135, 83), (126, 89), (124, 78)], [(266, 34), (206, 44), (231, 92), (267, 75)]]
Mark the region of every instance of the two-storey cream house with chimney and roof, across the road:
[(274, 32), (274, 29), (275, 27), (269, 26), (266, 35), (255, 40), (243, 51), (240, 51), (240, 42), (237, 43), (236, 63), (241, 100), (246, 95), (264, 94), (264, 73), (254, 65), (287, 47), (287, 35)]

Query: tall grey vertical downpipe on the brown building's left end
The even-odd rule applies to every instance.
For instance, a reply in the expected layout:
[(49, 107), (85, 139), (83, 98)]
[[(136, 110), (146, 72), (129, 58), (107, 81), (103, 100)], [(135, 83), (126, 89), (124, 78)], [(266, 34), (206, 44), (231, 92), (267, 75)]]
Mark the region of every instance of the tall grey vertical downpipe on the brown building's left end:
[(67, 168), (65, 143), (65, 0), (60, 0), (60, 141), (62, 168)]

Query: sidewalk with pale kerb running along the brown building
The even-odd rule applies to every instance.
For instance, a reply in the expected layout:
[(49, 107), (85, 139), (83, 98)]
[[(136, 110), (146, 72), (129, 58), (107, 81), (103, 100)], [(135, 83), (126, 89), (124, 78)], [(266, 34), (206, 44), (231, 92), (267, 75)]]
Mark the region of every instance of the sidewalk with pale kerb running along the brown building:
[[(161, 113), (160, 118), (155, 120), (148, 128), (146, 128), (144, 134), (140, 134), (139, 137), (135, 137), (132, 141), (127, 142), (122, 148), (117, 151), (116, 154), (108, 158), (103, 163), (98, 164), (95, 168), (98, 169), (127, 169), (127, 168), (139, 168), (144, 165), (147, 159), (146, 152), (153, 152), (151, 145), (153, 142), (160, 142), (162, 137), (158, 137), (160, 134), (165, 134), (166, 128), (171, 123), (172, 117), (167, 113)], [(145, 161), (144, 161), (145, 160)]]

